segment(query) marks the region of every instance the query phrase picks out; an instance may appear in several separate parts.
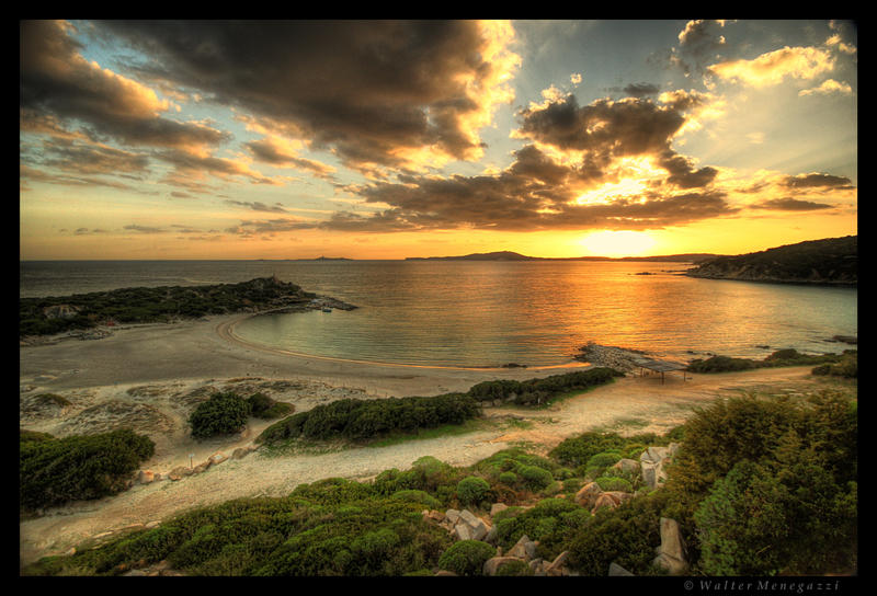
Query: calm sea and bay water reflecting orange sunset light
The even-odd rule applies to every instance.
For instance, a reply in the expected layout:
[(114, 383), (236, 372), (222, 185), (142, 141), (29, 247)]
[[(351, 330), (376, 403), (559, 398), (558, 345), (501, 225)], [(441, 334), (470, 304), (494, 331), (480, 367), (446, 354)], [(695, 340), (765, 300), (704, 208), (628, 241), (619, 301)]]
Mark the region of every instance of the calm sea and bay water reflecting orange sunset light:
[[(237, 283), (276, 275), (353, 311), (265, 314), (242, 339), (306, 354), (435, 366), (555, 366), (589, 341), (688, 360), (842, 352), (858, 330), (855, 288), (680, 275), (648, 262), (22, 262), (20, 296)], [(643, 275), (647, 274), (647, 275)], [(768, 346), (768, 347), (764, 347)]]

